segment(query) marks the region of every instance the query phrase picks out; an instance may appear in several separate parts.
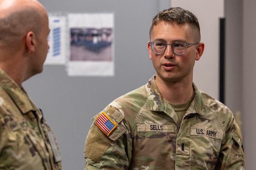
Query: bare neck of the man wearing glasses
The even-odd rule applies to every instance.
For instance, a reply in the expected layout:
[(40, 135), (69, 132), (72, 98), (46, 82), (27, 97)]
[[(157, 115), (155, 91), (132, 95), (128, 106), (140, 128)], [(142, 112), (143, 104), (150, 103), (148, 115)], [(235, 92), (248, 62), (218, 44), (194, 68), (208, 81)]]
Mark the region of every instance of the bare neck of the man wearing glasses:
[(155, 83), (164, 100), (173, 104), (186, 103), (194, 93), (192, 78), (181, 82), (164, 81), (156, 75)]

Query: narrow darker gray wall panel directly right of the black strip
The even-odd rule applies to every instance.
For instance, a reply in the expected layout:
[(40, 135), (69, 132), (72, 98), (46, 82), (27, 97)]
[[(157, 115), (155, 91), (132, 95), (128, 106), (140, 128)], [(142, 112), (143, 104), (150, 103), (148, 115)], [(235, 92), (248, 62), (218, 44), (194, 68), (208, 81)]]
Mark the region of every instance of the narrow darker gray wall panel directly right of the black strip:
[(243, 1), (225, 0), (226, 21), (226, 65), (225, 65), (225, 104), (234, 113), (241, 129), (242, 110), (242, 28)]

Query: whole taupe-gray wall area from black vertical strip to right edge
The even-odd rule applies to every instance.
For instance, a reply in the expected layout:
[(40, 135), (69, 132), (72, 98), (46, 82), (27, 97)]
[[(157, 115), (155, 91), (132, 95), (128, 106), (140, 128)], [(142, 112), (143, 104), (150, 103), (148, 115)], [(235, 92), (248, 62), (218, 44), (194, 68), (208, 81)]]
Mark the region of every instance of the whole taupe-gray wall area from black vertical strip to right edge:
[(245, 167), (248, 170), (255, 169), (256, 156), (255, 8), (255, 0), (225, 0), (226, 105), (234, 113), (241, 111)]

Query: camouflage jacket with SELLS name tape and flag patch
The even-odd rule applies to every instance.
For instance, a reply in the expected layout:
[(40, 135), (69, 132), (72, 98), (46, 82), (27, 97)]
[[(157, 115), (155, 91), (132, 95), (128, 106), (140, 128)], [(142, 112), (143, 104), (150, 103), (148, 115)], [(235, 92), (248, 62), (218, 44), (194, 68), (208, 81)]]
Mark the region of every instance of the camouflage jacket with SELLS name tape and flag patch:
[(85, 169), (244, 169), (233, 114), (193, 87), (195, 98), (182, 122), (161, 96), (155, 76), (114, 100), (93, 118), (85, 142)]

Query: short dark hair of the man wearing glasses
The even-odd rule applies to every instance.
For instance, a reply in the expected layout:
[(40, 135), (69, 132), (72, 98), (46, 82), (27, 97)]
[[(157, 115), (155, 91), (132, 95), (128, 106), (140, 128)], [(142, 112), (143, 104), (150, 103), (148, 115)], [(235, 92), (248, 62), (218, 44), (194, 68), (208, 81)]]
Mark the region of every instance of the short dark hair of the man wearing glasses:
[(152, 23), (149, 30), (150, 40), (151, 40), (151, 34), (154, 26), (157, 25), (160, 21), (175, 22), (179, 25), (188, 23), (191, 26), (191, 28), (194, 30), (195, 40), (198, 40), (200, 42), (199, 22), (197, 17), (194, 14), (192, 14), (192, 12), (187, 11), (180, 7), (172, 7), (172, 8), (160, 11), (152, 19)]

